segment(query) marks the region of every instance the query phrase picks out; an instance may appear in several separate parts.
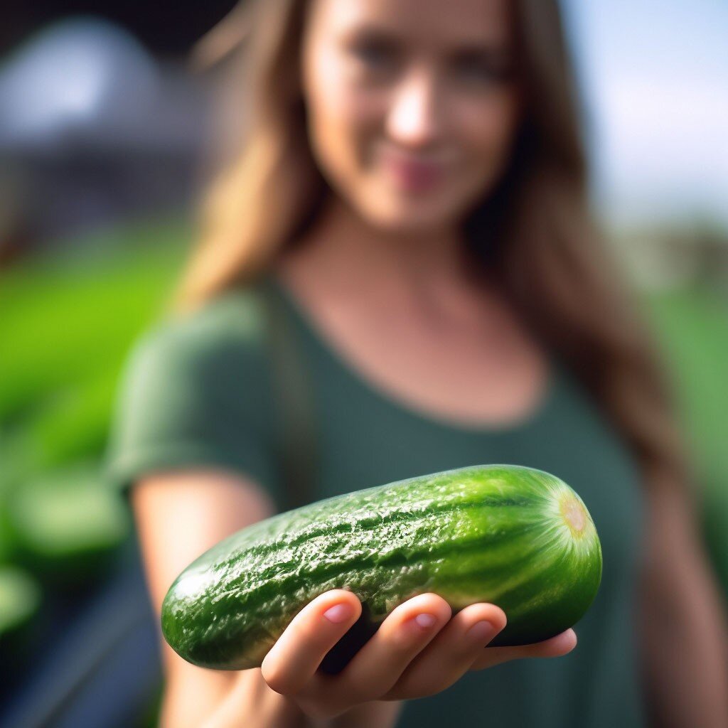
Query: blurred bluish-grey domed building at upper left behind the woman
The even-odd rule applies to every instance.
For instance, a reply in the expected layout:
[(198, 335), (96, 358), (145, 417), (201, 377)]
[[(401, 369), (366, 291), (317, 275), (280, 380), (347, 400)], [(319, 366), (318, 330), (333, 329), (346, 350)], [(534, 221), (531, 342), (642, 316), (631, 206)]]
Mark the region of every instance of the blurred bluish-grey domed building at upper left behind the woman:
[(106, 20), (63, 20), (0, 67), (0, 255), (98, 223), (181, 210), (207, 91)]

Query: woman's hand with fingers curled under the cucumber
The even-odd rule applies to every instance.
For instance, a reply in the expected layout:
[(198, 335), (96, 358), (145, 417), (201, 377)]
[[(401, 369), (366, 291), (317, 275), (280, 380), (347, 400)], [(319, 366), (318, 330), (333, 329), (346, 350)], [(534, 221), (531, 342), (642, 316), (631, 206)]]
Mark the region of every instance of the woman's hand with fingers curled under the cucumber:
[(468, 670), (523, 657), (559, 657), (577, 644), (569, 629), (537, 644), (486, 650), (505, 628), (502, 609), (472, 604), (451, 617), (443, 598), (422, 594), (389, 614), (341, 673), (317, 671), (361, 609), (357, 597), (345, 590), (329, 591), (306, 605), (261, 665), (268, 686), (310, 718), (328, 719), (368, 701), (435, 695)]

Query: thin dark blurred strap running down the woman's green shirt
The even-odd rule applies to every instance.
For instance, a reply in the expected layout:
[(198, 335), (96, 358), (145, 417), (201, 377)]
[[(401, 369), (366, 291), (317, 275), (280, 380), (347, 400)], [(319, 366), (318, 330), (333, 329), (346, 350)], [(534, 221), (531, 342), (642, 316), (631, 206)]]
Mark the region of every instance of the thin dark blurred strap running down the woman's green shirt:
[(269, 280), (262, 280), (259, 290), (280, 430), (278, 452), (285, 488), (282, 506), (290, 510), (314, 499), (319, 454), (313, 382), (296, 346), (296, 332), (284, 301)]

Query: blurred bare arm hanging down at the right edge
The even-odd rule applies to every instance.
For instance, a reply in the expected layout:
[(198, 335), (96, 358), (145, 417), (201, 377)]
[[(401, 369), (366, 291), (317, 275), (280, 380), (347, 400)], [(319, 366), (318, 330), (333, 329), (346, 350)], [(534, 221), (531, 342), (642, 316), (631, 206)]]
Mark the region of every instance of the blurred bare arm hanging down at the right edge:
[(728, 726), (727, 624), (697, 518), (673, 480), (648, 496), (641, 635), (657, 728)]

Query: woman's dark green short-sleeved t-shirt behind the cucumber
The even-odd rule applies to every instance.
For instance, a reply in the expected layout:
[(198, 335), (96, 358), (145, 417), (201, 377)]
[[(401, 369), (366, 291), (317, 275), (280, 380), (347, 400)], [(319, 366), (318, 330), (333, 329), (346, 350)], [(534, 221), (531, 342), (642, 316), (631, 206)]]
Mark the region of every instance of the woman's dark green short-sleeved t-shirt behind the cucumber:
[[(646, 726), (635, 628), (642, 483), (624, 444), (563, 365), (553, 363), (537, 411), (507, 427), (464, 427), (415, 411), (345, 362), (277, 283), (274, 291), (310, 368), (320, 443), (312, 499), (471, 464), (553, 472), (586, 503), (604, 572), (579, 644), (553, 659), (468, 673), (408, 701), (401, 727), (638, 728)], [(146, 332), (127, 361), (108, 451), (126, 488), (151, 470), (218, 466), (241, 472), (282, 505), (280, 440), (261, 320), (245, 290)]]

